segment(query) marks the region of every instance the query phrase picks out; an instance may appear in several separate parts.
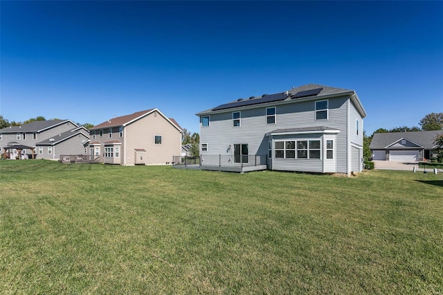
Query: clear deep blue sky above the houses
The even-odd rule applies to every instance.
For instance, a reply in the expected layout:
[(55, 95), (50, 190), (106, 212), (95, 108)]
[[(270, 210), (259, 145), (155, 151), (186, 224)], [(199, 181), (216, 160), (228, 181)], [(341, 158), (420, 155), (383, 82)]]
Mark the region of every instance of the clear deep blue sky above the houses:
[(443, 1), (1, 1), (0, 114), (94, 125), (302, 84), (353, 89), (364, 129), (443, 112)]

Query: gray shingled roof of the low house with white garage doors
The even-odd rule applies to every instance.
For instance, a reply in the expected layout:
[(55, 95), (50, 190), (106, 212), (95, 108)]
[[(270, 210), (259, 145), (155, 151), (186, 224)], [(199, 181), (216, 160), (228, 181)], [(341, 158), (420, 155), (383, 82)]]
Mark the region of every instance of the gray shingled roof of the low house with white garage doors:
[(403, 138), (431, 150), (435, 146), (434, 139), (438, 134), (443, 134), (443, 130), (375, 133), (369, 147), (371, 150), (384, 150)]

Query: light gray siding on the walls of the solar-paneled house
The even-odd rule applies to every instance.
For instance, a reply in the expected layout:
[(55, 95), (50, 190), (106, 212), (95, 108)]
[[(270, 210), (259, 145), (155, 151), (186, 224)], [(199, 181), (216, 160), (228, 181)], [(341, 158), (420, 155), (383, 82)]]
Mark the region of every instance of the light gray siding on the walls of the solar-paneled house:
[[(267, 132), (284, 128), (327, 126), (340, 130), (334, 138), (334, 161), (329, 161), (327, 170), (346, 173), (348, 148), (346, 118), (349, 101), (347, 96), (329, 98), (327, 120), (315, 119), (315, 100), (276, 105), (275, 124), (266, 124), (266, 107), (272, 105), (242, 110), (240, 127), (233, 127), (232, 109), (221, 114), (211, 114), (210, 126), (200, 127), (200, 141), (208, 143), (208, 151), (201, 151), (201, 154), (233, 154), (233, 149), (228, 150), (228, 147), (234, 143), (248, 143), (249, 154), (268, 154), (269, 138), (265, 136)], [(363, 122), (361, 125), (363, 128)], [(361, 141), (363, 141), (363, 137)], [(323, 164), (317, 164), (317, 160), (303, 160), (307, 163), (300, 162), (297, 167), (292, 163), (287, 163), (287, 166), (284, 166), (278, 162), (280, 160), (273, 159), (274, 169), (279, 167), (282, 170), (296, 171), (308, 171), (308, 168), (315, 171), (320, 170), (320, 172), (323, 170)]]

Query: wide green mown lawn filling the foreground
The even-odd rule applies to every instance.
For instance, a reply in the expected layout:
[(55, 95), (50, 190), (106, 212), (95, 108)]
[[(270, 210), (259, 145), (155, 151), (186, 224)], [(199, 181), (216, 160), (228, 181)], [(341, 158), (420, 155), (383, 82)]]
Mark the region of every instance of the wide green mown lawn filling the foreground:
[(443, 174), (0, 161), (3, 294), (442, 294)]

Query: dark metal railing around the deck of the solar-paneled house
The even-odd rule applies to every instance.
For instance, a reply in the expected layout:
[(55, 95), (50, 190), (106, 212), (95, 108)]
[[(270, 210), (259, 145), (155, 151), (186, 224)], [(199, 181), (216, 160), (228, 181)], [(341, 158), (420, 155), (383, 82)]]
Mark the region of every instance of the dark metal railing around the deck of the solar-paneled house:
[(200, 166), (253, 167), (267, 165), (268, 161), (266, 154), (202, 154), (200, 157)]

